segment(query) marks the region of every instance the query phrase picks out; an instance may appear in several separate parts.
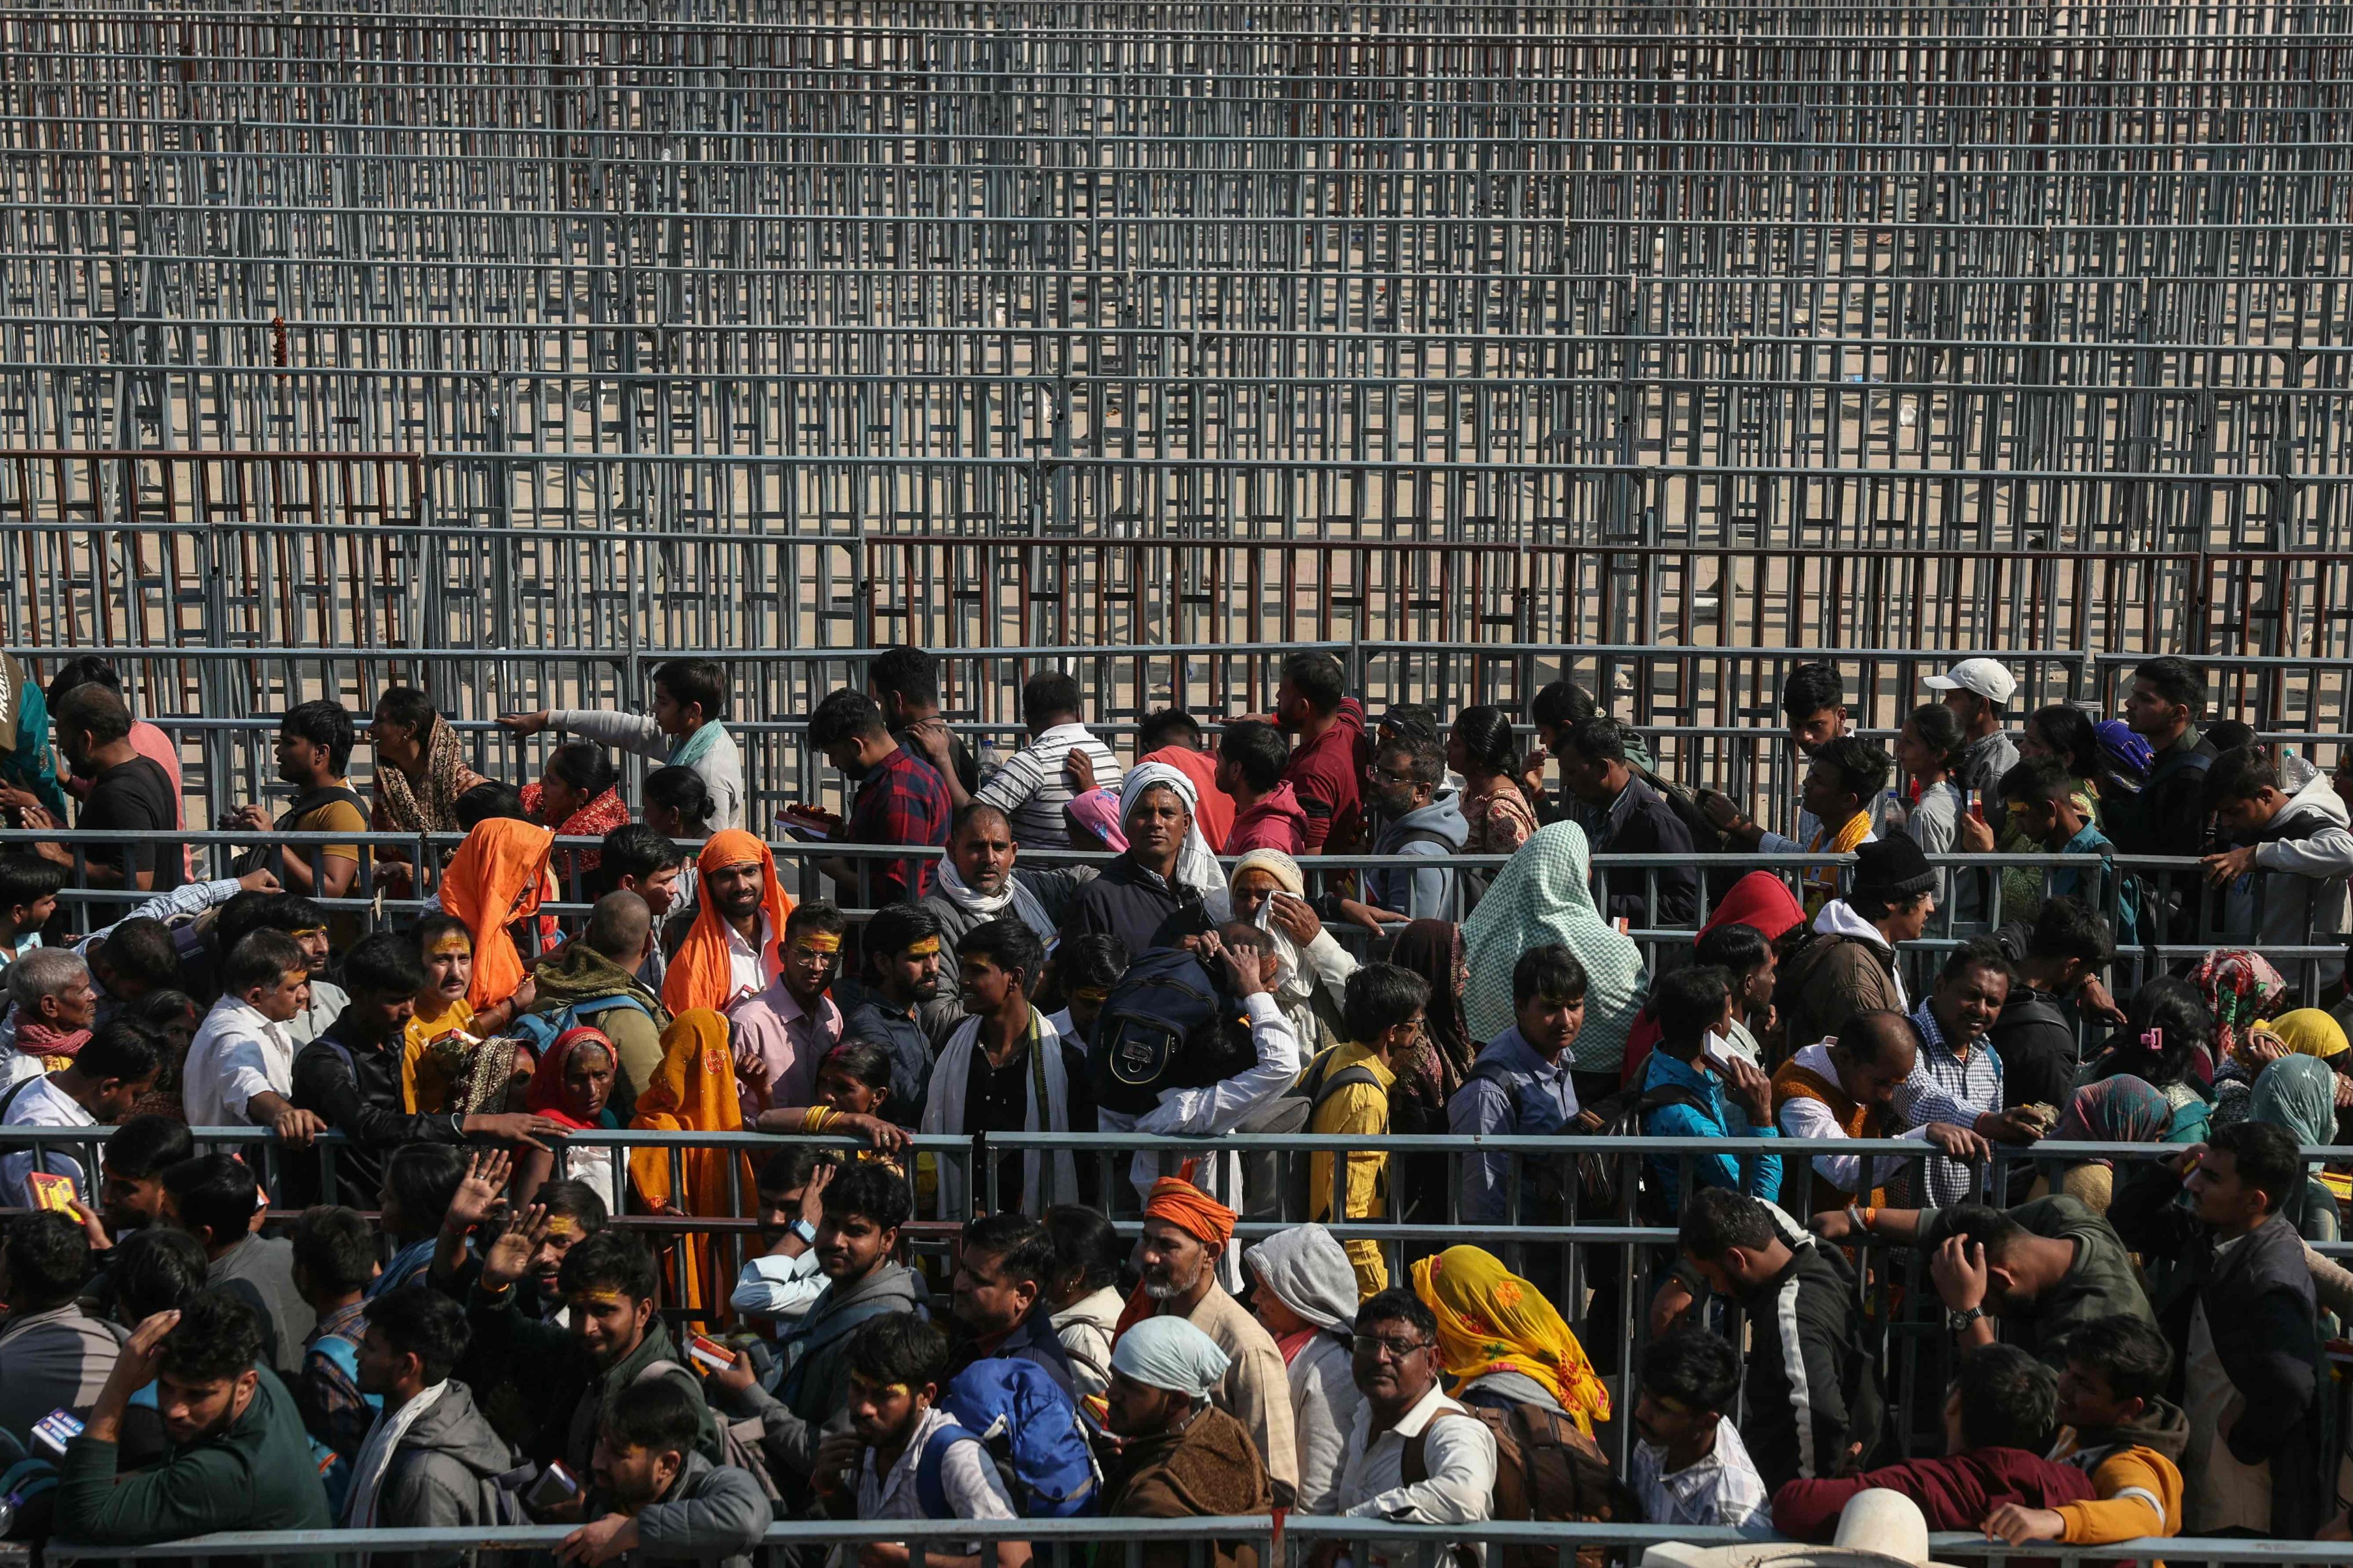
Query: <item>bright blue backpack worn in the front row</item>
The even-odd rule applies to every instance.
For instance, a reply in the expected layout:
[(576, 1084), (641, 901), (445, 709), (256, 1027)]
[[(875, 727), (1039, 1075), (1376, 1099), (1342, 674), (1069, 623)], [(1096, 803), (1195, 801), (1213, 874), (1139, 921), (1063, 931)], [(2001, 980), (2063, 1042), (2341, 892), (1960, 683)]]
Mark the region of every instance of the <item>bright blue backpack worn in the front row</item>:
[(915, 1460), (925, 1519), (955, 1519), (939, 1467), (955, 1443), (976, 1441), (995, 1462), (1021, 1519), (1078, 1519), (1101, 1509), (1104, 1476), (1078, 1406), (1035, 1361), (974, 1361), (939, 1403), (951, 1425), (932, 1432)]

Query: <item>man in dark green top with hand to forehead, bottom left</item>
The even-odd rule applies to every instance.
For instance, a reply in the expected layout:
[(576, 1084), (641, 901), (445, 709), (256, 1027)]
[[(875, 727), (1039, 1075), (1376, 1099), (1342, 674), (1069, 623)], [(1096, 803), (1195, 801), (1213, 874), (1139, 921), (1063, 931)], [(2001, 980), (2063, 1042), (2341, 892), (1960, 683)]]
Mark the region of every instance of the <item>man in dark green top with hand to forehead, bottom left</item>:
[[(214, 1530), (332, 1528), (294, 1396), (259, 1361), (261, 1319), (219, 1291), (139, 1324), (56, 1467), (59, 1540), (144, 1547)], [(122, 1413), (151, 1382), (172, 1453), (125, 1476)], [(282, 1561), (334, 1568), (332, 1552)]]

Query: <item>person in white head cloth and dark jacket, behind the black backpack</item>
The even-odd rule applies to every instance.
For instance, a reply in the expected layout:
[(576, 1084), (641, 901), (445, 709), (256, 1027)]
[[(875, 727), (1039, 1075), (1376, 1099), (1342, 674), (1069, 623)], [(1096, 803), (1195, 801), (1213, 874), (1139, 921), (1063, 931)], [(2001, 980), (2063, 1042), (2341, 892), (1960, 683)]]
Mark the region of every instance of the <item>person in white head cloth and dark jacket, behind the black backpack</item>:
[(1115, 936), (1132, 954), (1174, 947), (1224, 922), (1226, 877), (1193, 820), (1193, 780), (1139, 762), (1120, 780), (1127, 849), (1071, 900), (1064, 936)]

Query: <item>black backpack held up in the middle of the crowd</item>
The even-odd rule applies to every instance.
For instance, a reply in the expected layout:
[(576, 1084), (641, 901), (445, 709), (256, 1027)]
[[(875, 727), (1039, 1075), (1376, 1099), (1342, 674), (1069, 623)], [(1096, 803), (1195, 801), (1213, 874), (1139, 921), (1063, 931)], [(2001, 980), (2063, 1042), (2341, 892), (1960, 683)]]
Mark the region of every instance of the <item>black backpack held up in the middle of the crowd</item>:
[(1094, 1020), (1087, 1041), (1094, 1103), (1141, 1117), (1160, 1105), (1162, 1088), (1207, 1088), (1249, 1072), (1259, 1051), (1240, 1018), (1242, 1006), (1191, 952), (1146, 952)]

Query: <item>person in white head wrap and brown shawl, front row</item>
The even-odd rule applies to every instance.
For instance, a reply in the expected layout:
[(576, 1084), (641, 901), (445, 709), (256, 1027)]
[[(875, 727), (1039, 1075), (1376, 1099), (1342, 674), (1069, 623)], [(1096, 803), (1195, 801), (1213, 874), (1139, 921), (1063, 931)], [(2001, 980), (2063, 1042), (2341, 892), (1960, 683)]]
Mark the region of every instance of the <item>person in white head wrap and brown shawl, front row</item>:
[[(1217, 1340), (1181, 1316), (1148, 1316), (1111, 1349), (1106, 1425), (1120, 1469), (1106, 1488), (1113, 1519), (1233, 1519), (1266, 1514), (1275, 1493), (1249, 1429), (1209, 1394), (1226, 1375)], [(1247, 1542), (1212, 1542), (1217, 1568), (1257, 1568)], [(1191, 1542), (1144, 1549), (1144, 1568), (1181, 1568)]]

